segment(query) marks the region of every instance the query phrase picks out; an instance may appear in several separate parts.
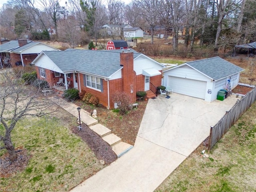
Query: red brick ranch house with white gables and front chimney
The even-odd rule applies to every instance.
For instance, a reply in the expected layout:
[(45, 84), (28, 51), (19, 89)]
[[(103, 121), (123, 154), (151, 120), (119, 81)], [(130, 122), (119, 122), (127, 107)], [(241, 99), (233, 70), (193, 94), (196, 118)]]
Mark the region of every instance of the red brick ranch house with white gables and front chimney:
[(68, 89), (92, 93), (100, 104), (114, 108), (112, 96), (125, 92), (136, 101), (137, 91), (161, 85), (163, 64), (134, 50), (75, 50), (42, 52), (33, 62), (38, 78), (54, 86), (63, 78)]

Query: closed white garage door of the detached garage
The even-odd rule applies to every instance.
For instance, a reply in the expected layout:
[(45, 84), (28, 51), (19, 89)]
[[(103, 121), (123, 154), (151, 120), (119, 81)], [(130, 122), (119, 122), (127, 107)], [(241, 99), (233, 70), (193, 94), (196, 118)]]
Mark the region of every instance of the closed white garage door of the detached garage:
[(205, 98), (206, 84), (206, 81), (169, 76), (169, 86), (173, 92), (196, 98)]

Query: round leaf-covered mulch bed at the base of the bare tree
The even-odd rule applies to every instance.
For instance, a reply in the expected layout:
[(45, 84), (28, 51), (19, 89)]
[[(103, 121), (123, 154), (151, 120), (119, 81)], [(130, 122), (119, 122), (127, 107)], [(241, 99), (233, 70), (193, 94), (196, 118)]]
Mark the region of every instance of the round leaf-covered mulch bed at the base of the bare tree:
[(6, 153), (0, 158), (0, 177), (10, 177), (17, 172), (22, 172), (28, 165), (30, 156), (24, 148), (17, 148), (16, 153), (18, 157), (11, 162), (9, 160), (9, 154)]

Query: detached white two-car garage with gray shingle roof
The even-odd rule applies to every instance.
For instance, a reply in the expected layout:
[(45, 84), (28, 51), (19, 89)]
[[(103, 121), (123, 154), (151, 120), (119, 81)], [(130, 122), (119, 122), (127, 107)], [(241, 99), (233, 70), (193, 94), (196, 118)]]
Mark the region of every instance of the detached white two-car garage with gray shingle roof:
[(228, 88), (228, 80), (232, 89), (238, 85), (242, 71), (220, 57), (190, 61), (165, 70), (164, 86), (173, 92), (212, 102), (219, 90)]

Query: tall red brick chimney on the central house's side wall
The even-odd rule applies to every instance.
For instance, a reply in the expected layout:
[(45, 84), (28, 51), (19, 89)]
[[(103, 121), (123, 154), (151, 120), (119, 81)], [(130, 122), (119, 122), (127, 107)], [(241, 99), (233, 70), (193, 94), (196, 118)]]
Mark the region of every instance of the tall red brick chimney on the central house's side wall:
[(133, 70), (133, 52), (120, 53), (120, 65), (122, 69), (123, 91), (130, 95), (132, 102), (136, 101), (136, 73)]

